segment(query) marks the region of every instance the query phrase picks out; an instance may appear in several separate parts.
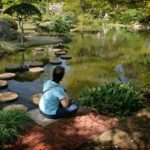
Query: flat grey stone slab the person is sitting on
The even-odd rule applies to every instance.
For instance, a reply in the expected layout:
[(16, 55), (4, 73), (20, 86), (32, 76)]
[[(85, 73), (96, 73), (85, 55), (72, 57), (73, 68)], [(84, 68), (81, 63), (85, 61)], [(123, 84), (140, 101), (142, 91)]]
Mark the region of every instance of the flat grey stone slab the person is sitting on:
[(33, 109), (27, 112), (28, 117), (40, 126), (47, 126), (60, 119), (48, 119), (41, 115), (39, 109)]

